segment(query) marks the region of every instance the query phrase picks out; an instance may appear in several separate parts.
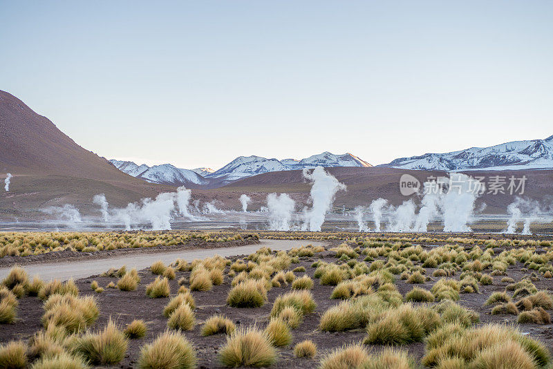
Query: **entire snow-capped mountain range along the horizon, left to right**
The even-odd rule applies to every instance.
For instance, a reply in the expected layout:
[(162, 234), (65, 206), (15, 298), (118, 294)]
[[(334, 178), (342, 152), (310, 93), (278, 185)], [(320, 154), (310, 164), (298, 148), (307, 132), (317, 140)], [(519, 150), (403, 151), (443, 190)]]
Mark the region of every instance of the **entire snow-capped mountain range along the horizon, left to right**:
[[(311, 169), (317, 166), (372, 167), (357, 156), (345, 153), (335, 155), (325, 151), (309, 158), (268, 159), (261, 156), (239, 156), (214, 171), (209, 168), (180, 169), (171, 164), (138, 165), (134, 162), (110, 160), (121, 171), (135, 178), (165, 185), (188, 185), (191, 187), (221, 187), (237, 180), (275, 171)], [(425, 171), (473, 171), (473, 170), (521, 170), (553, 168), (553, 135), (545, 140), (507, 142), (490, 147), (472, 147), (450, 153), (426, 153), (411, 158), (395, 159), (377, 167)]]

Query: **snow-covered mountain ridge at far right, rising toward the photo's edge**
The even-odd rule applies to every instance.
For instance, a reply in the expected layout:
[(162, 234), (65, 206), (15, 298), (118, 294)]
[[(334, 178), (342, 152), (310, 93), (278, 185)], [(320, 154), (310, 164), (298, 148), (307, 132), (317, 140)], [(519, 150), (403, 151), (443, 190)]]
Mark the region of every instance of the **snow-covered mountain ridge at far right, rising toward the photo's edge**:
[(383, 166), (436, 171), (553, 168), (553, 135), (545, 140), (514, 141), (451, 153), (427, 153), (395, 159)]

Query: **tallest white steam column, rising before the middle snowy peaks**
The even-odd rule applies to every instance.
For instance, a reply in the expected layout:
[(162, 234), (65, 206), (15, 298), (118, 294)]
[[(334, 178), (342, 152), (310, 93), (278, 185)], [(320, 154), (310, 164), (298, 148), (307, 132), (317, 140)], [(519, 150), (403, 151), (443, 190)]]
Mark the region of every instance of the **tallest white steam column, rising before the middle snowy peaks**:
[(304, 213), (303, 229), (321, 231), (326, 213), (332, 207), (334, 197), (339, 190), (345, 190), (346, 185), (324, 171), (323, 167), (316, 167), (312, 173), (303, 169), (303, 177), (312, 182), (310, 200), (313, 206)]

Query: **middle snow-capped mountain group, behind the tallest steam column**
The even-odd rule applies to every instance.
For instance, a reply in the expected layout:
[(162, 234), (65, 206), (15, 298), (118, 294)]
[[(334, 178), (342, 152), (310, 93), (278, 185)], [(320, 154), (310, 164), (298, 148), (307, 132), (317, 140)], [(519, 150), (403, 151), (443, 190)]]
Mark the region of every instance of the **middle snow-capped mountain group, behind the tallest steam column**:
[(241, 178), (255, 176), (256, 174), (270, 171), (292, 171), (296, 169), (311, 169), (315, 167), (372, 167), (371, 164), (357, 158), (355, 155), (345, 153), (335, 155), (325, 151), (319, 155), (312, 155), (309, 158), (295, 159), (268, 159), (261, 156), (239, 156), (229, 162), (225, 167), (214, 173), (208, 174), (206, 178), (220, 178), (224, 182), (232, 182)]

